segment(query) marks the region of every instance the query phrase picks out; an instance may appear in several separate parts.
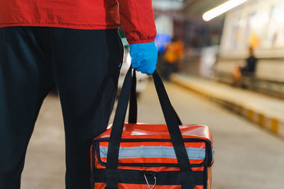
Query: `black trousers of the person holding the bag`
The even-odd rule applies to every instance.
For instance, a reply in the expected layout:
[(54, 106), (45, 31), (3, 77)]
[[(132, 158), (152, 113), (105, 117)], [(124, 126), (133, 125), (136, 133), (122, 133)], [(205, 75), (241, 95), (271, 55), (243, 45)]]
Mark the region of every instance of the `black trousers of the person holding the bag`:
[(65, 124), (66, 188), (90, 188), (89, 147), (107, 127), (122, 59), (117, 30), (0, 28), (1, 189), (20, 188), (38, 111), (55, 86)]

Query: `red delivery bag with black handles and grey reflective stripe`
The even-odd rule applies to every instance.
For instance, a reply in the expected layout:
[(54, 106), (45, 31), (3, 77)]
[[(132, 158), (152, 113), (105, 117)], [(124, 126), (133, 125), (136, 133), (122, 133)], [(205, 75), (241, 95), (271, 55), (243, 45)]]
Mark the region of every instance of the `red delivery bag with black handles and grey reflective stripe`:
[[(112, 127), (92, 142), (92, 188), (211, 189), (209, 127), (181, 124), (157, 71), (153, 79), (166, 125), (137, 124), (136, 77), (131, 72), (126, 74)], [(124, 123), (130, 94), (129, 123)]]

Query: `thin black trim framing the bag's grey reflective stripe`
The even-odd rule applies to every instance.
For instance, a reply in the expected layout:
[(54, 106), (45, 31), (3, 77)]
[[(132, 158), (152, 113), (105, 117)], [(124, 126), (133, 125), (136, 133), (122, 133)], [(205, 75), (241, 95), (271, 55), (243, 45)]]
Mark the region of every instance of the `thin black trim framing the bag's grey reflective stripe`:
[[(200, 167), (205, 165), (211, 165), (212, 161), (212, 149), (211, 142), (208, 139), (183, 139), (184, 142), (204, 142), (205, 143), (205, 158), (204, 161), (200, 164), (191, 164), (192, 167)], [(96, 151), (98, 163), (102, 166), (107, 166), (107, 163), (102, 161), (100, 151), (99, 151), (99, 142), (109, 142), (109, 139), (96, 139)], [(121, 142), (171, 142), (170, 139), (121, 139)], [(93, 144), (94, 145), (94, 144)], [(145, 167), (158, 167), (158, 166), (168, 166), (168, 167), (179, 167), (178, 164), (158, 164), (158, 163), (124, 163), (118, 164), (119, 166), (145, 166)]]

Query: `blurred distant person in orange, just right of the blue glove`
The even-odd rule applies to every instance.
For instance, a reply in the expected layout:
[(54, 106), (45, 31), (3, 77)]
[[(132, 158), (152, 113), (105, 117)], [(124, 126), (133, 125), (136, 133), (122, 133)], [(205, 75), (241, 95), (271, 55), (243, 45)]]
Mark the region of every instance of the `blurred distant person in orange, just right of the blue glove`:
[(173, 72), (178, 71), (178, 68), (180, 67), (180, 61), (183, 57), (183, 42), (181, 40), (176, 40), (175, 38), (173, 38), (172, 42), (166, 45), (163, 57), (165, 62), (163, 77), (165, 80), (169, 80), (170, 75), (173, 74)]

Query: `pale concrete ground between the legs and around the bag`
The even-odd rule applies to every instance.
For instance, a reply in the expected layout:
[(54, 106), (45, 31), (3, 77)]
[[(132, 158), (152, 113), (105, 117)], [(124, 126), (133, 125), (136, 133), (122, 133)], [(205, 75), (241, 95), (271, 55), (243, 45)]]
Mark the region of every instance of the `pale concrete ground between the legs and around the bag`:
[[(283, 139), (184, 88), (166, 88), (182, 122), (209, 125), (213, 132), (213, 189), (284, 188)], [(152, 83), (139, 99), (138, 121), (165, 122)], [(28, 147), (22, 189), (64, 189), (64, 159), (60, 103), (48, 96)]]

